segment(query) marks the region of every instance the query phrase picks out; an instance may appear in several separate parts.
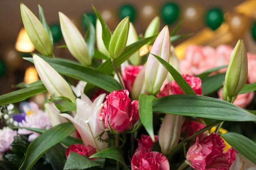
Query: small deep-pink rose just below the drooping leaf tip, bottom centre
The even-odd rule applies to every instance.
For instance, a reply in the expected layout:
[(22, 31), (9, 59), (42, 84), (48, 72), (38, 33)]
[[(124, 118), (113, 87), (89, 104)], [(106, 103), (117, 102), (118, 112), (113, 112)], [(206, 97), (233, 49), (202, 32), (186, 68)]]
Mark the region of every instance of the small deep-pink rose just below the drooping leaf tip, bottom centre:
[[(154, 136), (155, 137), (155, 142), (158, 141), (158, 136)], [(154, 142), (152, 141), (151, 137), (149, 135), (141, 135), (140, 139), (136, 139), (138, 142), (138, 147), (135, 150), (135, 153), (138, 151), (142, 151), (142, 152), (150, 152), (150, 150), (152, 149)]]

